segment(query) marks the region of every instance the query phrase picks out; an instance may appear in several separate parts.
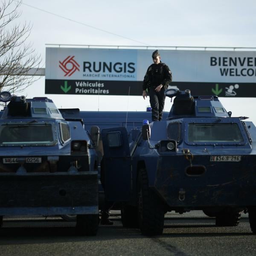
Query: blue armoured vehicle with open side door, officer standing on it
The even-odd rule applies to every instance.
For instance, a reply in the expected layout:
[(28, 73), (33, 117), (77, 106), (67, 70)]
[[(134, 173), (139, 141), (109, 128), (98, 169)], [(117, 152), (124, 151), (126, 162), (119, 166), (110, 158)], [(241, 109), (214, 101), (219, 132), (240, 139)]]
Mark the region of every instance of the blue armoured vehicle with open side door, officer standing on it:
[(236, 226), (249, 212), (256, 233), (256, 127), (231, 117), (217, 96), (175, 97), (166, 120), (132, 131), (102, 130), (105, 196), (122, 203), (124, 227), (163, 233), (164, 215), (203, 210), (216, 226)]

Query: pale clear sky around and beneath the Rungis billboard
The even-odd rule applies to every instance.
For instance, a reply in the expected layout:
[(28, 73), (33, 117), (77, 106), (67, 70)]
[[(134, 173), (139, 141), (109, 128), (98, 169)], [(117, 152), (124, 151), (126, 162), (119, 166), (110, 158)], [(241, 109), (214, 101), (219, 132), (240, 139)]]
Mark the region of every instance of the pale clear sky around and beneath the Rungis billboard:
[[(23, 0), (20, 10), (20, 22), (32, 24), (28, 40), (42, 67), (46, 44), (256, 47), (256, 0)], [(23, 94), (44, 96), (44, 77)], [(46, 96), (58, 108), (80, 110), (144, 111), (150, 105), (142, 96)], [(220, 99), (233, 116), (256, 123), (255, 98)], [(170, 107), (167, 98), (164, 110)]]

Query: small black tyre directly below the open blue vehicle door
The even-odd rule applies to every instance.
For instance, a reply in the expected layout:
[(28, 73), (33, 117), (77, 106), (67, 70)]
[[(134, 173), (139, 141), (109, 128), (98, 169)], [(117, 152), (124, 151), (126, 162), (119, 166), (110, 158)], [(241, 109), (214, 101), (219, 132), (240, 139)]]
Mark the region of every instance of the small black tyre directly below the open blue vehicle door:
[(121, 207), (121, 221), (123, 227), (139, 228), (137, 207), (124, 205)]

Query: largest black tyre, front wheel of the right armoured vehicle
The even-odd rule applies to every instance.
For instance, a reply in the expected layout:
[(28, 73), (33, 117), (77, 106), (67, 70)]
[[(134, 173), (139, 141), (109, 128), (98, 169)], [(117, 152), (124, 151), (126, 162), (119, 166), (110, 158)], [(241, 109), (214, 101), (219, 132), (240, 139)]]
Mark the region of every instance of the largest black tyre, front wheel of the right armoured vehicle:
[(137, 204), (141, 233), (148, 236), (162, 234), (164, 225), (163, 204), (157, 195), (148, 188), (148, 177), (145, 169), (139, 172)]

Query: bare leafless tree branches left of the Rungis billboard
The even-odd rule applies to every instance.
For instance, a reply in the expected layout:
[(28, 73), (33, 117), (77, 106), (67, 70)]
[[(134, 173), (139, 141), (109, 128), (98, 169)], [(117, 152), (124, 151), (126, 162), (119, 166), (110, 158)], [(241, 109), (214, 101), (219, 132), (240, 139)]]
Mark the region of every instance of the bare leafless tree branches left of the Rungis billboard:
[(0, 91), (21, 92), (40, 79), (27, 75), (31, 70), (37, 72), (41, 55), (26, 43), (32, 29), (30, 23), (15, 23), (21, 15), (21, 3), (22, 0), (0, 0)]

